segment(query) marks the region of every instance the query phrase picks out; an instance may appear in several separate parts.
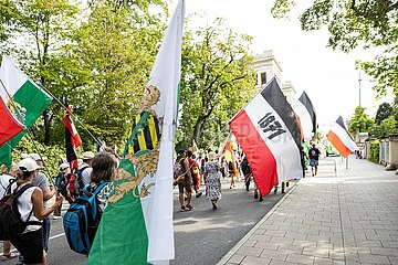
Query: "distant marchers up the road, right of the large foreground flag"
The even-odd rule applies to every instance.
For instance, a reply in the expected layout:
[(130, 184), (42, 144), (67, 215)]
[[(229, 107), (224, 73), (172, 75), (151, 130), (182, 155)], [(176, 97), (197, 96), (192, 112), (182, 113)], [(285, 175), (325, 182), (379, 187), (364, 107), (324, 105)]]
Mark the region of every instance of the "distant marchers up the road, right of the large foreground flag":
[[(321, 156), (320, 149), (315, 144), (304, 151), (302, 148), (302, 168), (303, 178), (307, 166), (311, 167), (311, 174), (315, 177), (318, 170), (318, 159)], [(235, 182), (242, 180), (247, 192), (250, 191), (250, 186), (253, 183), (253, 198), (263, 201), (263, 198), (258, 190), (253, 172), (250, 168), (248, 158), (244, 152), (233, 150), (232, 161), (228, 160), (223, 153), (219, 155), (218, 150), (212, 151), (208, 149), (206, 152), (199, 152), (198, 158), (189, 148), (188, 150), (179, 150), (174, 166), (175, 187), (179, 190), (180, 212), (191, 211), (192, 194), (199, 198), (202, 195), (200, 187), (205, 186), (206, 197), (211, 201), (212, 209), (218, 209), (217, 202), (221, 199), (221, 179), (229, 178), (229, 189), (235, 187)], [(281, 193), (285, 193), (289, 188), (289, 181), (280, 183)], [(274, 193), (279, 190), (279, 186), (274, 187)]]

